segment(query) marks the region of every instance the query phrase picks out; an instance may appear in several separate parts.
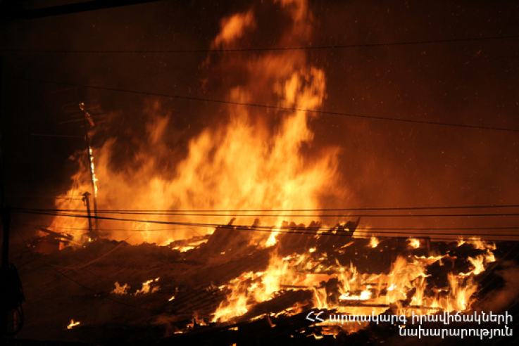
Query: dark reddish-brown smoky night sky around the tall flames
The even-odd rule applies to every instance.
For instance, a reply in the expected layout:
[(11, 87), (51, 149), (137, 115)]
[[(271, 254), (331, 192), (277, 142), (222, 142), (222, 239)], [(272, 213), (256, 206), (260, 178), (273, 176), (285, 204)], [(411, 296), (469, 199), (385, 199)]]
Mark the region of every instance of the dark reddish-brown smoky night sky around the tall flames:
[[(33, 1), (39, 4), (40, 1)], [(44, 1), (41, 1), (42, 3)], [(57, 2), (56, 2), (57, 3)], [(50, 3), (49, 3), (50, 4)], [(53, 3), (54, 4), (54, 3)], [(286, 11), (272, 1), (158, 1), (88, 13), (0, 23), (4, 76), (89, 84), (113, 89), (225, 99), (251, 85), (240, 62), (262, 52), (27, 53), (10, 50), (204, 50), (235, 13), (254, 11), (256, 29), (236, 48), (331, 46), (430, 41), (518, 34), (514, 1), (310, 1), (311, 33), (288, 42)], [(411, 44), (306, 51), (322, 69), (322, 110), (354, 115), (519, 129), (519, 39)], [(252, 57), (251, 57), (252, 56)], [(244, 81), (245, 80), (245, 81)], [(81, 122), (68, 122), (63, 105), (97, 101), (105, 122), (92, 146), (115, 138), (114, 169), (140, 165), (146, 146), (146, 109), (158, 102), (170, 117), (166, 145), (173, 160), (189, 140), (228, 121), (227, 105), (4, 77), (2, 153), (7, 203), (54, 207), (77, 170), (69, 160), (84, 150)], [(253, 103), (272, 103), (258, 96)], [(283, 111), (255, 109), (273, 129)], [(518, 203), (519, 134), (342, 115), (312, 117), (309, 158), (339, 147), (344, 200), (325, 207), (420, 207)], [(239, 162), (237, 162), (239, 165)], [(168, 171), (168, 168), (164, 169)], [(323, 192), (325, 194), (325, 192)], [(139, 196), (131, 196), (139, 198)], [(500, 220), (511, 225), (512, 219)], [(493, 225), (496, 225), (494, 223)]]

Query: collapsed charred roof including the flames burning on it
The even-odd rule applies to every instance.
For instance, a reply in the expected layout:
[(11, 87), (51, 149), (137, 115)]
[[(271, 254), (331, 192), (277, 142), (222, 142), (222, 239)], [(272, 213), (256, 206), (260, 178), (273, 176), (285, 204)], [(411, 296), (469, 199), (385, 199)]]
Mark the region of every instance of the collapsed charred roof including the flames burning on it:
[[(515, 245), (363, 237), (359, 220), (332, 228), (234, 221), (161, 246), (99, 238), (23, 253), (25, 327), (15, 342), (401, 344), (417, 328), (442, 345), (460, 336), (427, 335), (472, 330), (465, 340), (484, 345), (514, 338), (505, 330), (518, 321)], [(506, 326), (490, 312), (506, 314)], [(427, 323), (412, 324), (417, 318)], [(494, 338), (478, 337), (482, 328), (497, 330)]]

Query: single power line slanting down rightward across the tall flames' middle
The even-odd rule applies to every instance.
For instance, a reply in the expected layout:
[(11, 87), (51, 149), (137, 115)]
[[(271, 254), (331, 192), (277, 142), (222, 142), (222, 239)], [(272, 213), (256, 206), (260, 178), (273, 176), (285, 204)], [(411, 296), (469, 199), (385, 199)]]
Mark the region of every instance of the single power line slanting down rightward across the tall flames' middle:
[(146, 95), (146, 96), (177, 98), (177, 99), (188, 100), (188, 101), (202, 101), (202, 102), (230, 104), (230, 105), (244, 105), (247, 107), (265, 108), (265, 109), (273, 109), (273, 110), (287, 110), (290, 112), (305, 112), (305, 113), (317, 113), (317, 114), (324, 114), (324, 115), (339, 115), (339, 116), (343, 116), (343, 117), (358, 117), (358, 118), (363, 118), (363, 119), (389, 120), (389, 121), (396, 121), (396, 122), (410, 122), (410, 123), (415, 123), (415, 124), (430, 124), (430, 125), (440, 125), (440, 126), (465, 127), (465, 128), (469, 128), (469, 129), (487, 129), (487, 130), (494, 130), (494, 131), (519, 132), (519, 129), (505, 129), (502, 127), (484, 127), (484, 126), (477, 126), (477, 125), (451, 124), (449, 122), (429, 122), (429, 121), (424, 121), (424, 120), (399, 119), (399, 118), (392, 118), (392, 117), (376, 117), (374, 115), (358, 115), (358, 114), (352, 114), (352, 113), (330, 112), (327, 110), (310, 110), (310, 109), (303, 109), (303, 108), (289, 108), (289, 107), (281, 107), (281, 106), (277, 106), (277, 105), (262, 105), (262, 104), (258, 104), (258, 103), (244, 103), (244, 102), (236, 102), (236, 101), (217, 100), (217, 99), (213, 99), (213, 98), (200, 98), (200, 97), (193, 97), (193, 96), (173, 95), (173, 94), (156, 94), (156, 93), (151, 93), (151, 92), (147, 92), (147, 91), (116, 89), (116, 88), (108, 88), (108, 87), (95, 87), (93, 85), (75, 84), (75, 83), (69, 83), (69, 82), (58, 82), (58, 81), (50, 81), (50, 80), (45, 80), (45, 79), (32, 79), (32, 78), (7, 76), (7, 75), (4, 75), (2, 77), (11, 78), (11, 79), (19, 79), (19, 80), (24, 80), (24, 81), (29, 81), (29, 82), (41, 82), (41, 83), (49, 83), (49, 84), (68, 85), (68, 86), (72, 86), (72, 87), (83, 87), (83, 88), (97, 89), (97, 90), (117, 91), (117, 92), (139, 94), (139, 95)]

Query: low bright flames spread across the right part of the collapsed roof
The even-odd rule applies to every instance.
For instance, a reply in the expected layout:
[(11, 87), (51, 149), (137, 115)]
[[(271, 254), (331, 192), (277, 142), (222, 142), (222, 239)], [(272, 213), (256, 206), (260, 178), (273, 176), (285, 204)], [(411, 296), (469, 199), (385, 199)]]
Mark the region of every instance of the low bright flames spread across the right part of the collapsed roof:
[[(231, 321), (251, 311), (254, 305), (282, 295), (286, 290), (311, 291), (313, 297), (308, 303), (310, 307), (307, 306), (305, 309), (311, 307), (334, 309), (349, 314), (365, 314), (373, 310), (380, 314), (385, 311), (384, 306), (396, 304), (399, 307), (399, 314), (411, 314), (413, 309), (419, 309), (422, 314), (432, 314), (439, 310), (463, 312), (470, 309), (475, 300), (473, 294), (477, 291), (477, 283), (471, 274), (477, 275), (484, 271), (490, 263), (487, 258), (492, 259), (493, 256), (488, 248), (492, 245), (487, 243), (484, 245), (487, 255), (468, 258), (475, 267), (470, 274), (463, 276), (449, 272), (447, 275), (449, 287), (432, 288), (432, 290), (426, 289), (427, 279), (430, 277), (427, 274), (427, 267), (442, 259), (454, 260), (456, 257), (398, 256), (388, 274), (368, 274), (358, 271), (352, 263), (347, 267), (339, 262), (325, 266), (323, 263), (327, 261), (327, 255), (320, 253), (316, 248), (311, 248), (304, 254), (284, 257), (273, 252), (265, 271), (242, 274), (229, 284), (220, 287), (221, 290), (229, 293), (216, 309), (213, 321)], [(335, 286), (337, 290), (326, 288), (325, 283), (332, 280), (337, 281)], [(380, 307), (370, 308), (370, 305), (363, 307), (365, 303), (380, 305)], [(282, 313), (292, 314), (300, 311), (303, 310), (298, 302)], [(256, 319), (261, 316), (256, 316)], [(348, 328), (355, 331), (362, 326), (358, 324), (356, 327)]]

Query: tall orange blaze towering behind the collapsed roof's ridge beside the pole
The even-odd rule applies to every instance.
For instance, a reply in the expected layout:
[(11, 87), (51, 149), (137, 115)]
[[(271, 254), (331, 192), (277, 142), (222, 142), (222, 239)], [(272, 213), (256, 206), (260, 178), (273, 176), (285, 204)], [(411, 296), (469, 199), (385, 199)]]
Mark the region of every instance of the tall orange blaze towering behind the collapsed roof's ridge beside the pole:
[[(286, 34), (280, 35), (280, 46), (293, 46), (311, 39), (311, 18), (306, 1), (279, 1), (290, 18)], [(259, 29), (256, 9), (235, 13), (221, 21), (220, 33), (211, 46), (232, 48)], [(339, 183), (340, 149), (314, 148), (311, 121), (327, 98), (326, 76), (305, 51), (265, 51), (250, 55), (230, 56), (220, 60), (208, 56), (204, 66), (225, 64), (242, 82), (224, 86), (222, 98), (230, 103), (264, 103), (291, 111), (270, 112), (230, 104), (208, 114), (207, 119), (221, 119), (201, 129), (187, 143), (182, 157), (172, 155), (168, 147), (171, 134), (187, 129), (173, 129), (173, 110), (158, 101), (149, 101), (142, 111), (144, 138), (135, 137), (135, 155), (123, 167), (113, 164), (121, 139), (111, 138), (92, 148), (99, 210), (301, 210), (323, 207), (323, 197), (345, 198), (347, 187)], [(102, 125), (102, 126), (110, 126)], [(187, 127), (187, 126), (186, 126)], [(96, 134), (93, 134), (95, 136)], [(85, 153), (76, 155), (85, 162)], [(73, 191), (89, 191), (89, 171), (82, 166)], [(90, 167), (92, 168), (92, 167)], [(91, 191), (92, 192), (92, 191)], [(351, 196), (348, 196), (351, 198)], [(350, 199), (351, 200), (351, 199)], [(56, 207), (85, 212), (80, 202), (56, 203)], [(139, 215), (138, 219), (185, 221), (223, 224), (223, 217), (166, 217)], [(254, 217), (239, 217), (237, 224), (252, 224)], [(283, 219), (273, 213), (261, 220), (279, 227)], [(306, 222), (306, 220), (296, 220)], [(101, 221), (103, 229), (118, 229), (121, 224)], [(55, 217), (54, 226), (87, 229), (85, 219), (68, 220)], [(170, 239), (193, 236), (189, 229), (147, 231), (149, 225), (125, 224), (128, 232), (109, 233), (123, 240), (130, 231), (139, 231), (132, 238), (137, 243), (163, 244)], [(200, 231), (196, 229), (195, 231)], [(77, 238), (84, 231), (77, 230)], [(275, 245), (276, 232), (265, 233), (260, 245)]]

